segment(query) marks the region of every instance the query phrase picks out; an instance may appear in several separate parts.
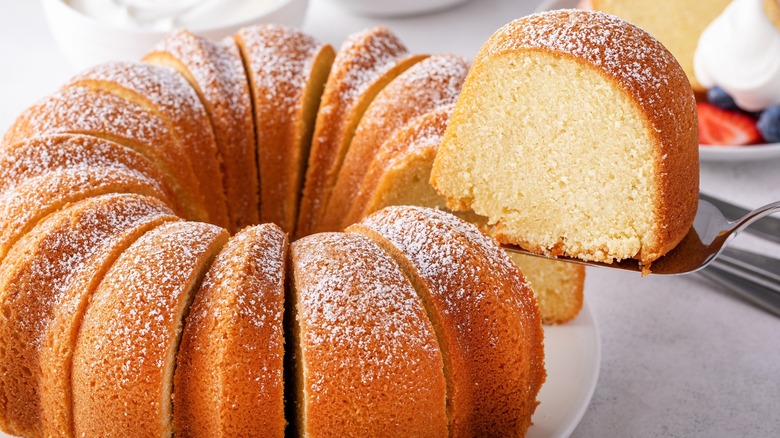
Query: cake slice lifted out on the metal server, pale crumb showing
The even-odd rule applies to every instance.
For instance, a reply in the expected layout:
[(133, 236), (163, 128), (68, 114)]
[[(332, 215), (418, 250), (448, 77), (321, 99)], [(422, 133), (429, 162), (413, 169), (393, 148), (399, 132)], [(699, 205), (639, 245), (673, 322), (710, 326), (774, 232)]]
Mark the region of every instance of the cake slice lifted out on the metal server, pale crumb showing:
[(431, 182), (504, 243), (646, 268), (693, 223), (696, 104), (674, 57), (614, 16), (516, 20), (480, 49)]

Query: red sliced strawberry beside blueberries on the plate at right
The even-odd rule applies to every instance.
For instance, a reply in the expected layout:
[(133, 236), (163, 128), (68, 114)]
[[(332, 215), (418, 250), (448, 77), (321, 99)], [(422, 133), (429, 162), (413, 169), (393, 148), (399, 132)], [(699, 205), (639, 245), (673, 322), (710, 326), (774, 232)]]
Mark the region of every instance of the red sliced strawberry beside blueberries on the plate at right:
[(756, 121), (750, 116), (706, 102), (696, 106), (699, 110), (699, 143), (738, 146), (761, 142)]

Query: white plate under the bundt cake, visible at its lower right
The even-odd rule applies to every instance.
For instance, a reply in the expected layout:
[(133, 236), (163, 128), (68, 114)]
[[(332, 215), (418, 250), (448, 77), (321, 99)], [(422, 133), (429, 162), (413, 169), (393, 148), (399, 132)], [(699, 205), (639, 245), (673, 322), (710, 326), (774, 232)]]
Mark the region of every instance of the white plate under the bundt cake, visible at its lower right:
[(528, 438), (568, 437), (588, 408), (601, 366), (598, 325), (587, 301), (569, 323), (544, 327), (547, 381)]

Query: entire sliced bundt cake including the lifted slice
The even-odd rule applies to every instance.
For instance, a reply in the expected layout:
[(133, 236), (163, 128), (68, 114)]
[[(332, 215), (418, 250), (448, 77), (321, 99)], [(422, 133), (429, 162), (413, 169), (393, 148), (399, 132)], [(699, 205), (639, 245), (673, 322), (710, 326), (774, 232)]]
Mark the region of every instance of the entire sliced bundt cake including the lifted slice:
[[(693, 217), (690, 87), (603, 14), (510, 24), (468, 76), (384, 28), (335, 60), (279, 26), (177, 32), (146, 60), (77, 76), (3, 138), (5, 431), (523, 435), (545, 379), (525, 277), (449, 213), (375, 210), (441, 207), (430, 174), (504, 241), (642, 263)], [(534, 281), (566, 275), (581, 291)]]

